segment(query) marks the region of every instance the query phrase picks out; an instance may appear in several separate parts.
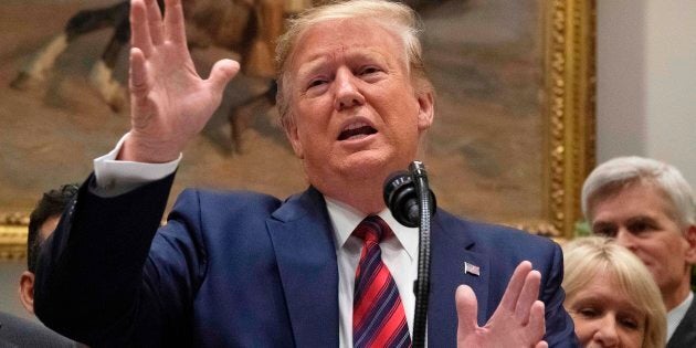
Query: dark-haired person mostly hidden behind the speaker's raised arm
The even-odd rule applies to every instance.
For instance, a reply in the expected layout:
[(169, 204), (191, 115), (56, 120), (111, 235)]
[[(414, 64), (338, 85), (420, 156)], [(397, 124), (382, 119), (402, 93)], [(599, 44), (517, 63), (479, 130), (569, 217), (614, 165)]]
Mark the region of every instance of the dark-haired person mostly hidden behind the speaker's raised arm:
[[(77, 184), (64, 184), (44, 192), (29, 218), (27, 268), (20, 276), (20, 302), (34, 314), (34, 271), (41, 244), (53, 233), (63, 210), (77, 193)], [(48, 327), (0, 312), (0, 347), (82, 347)]]

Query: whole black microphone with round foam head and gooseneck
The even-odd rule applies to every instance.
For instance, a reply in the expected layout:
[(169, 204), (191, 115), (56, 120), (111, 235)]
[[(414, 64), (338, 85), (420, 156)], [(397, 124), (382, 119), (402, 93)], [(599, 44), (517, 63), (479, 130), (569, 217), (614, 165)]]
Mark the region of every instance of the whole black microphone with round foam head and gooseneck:
[(435, 213), (435, 196), (428, 186), (428, 172), (421, 161), (413, 161), (409, 171), (397, 171), (384, 181), (384, 203), (399, 223), (419, 226), (418, 278), (413, 284), (415, 313), (413, 347), (425, 345), (428, 295), (430, 292), (430, 218)]

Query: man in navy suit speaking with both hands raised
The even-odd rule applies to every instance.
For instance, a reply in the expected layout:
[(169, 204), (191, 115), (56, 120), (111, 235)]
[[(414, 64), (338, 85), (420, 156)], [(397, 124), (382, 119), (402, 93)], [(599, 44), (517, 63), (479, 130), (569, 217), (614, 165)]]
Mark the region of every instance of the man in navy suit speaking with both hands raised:
[[(434, 116), (412, 10), (357, 0), (292, 21), (277, 104), (309, 188), (285, 201), (187, 190), (159, 228), (180, 154), (239, 71), (222, 60), (200, 78), (180, 0), (166, 3), (162, 19), (155, 0), (131, 2), (131, 129), (42, 250), (38, 315), (93, 346), (350, 347), (352, 231), (377, 215), (393, 231), (381, 260), (412, 330), (418, 230), (382, 200)], [(429, 346), (577, 345), (557, 244), (443, 210), (432, 225)]]

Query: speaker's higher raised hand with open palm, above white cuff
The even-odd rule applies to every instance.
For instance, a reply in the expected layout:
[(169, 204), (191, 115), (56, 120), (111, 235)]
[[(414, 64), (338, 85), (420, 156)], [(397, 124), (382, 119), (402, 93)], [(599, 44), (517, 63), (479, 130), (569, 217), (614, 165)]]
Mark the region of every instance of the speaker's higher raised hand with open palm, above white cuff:
[(123, 160), (176, 159), (215, 112), (225, 85), (240, 70), (217, 62), (208, 80), (196, 72), (186, 40), (181, 0), (166, 0), (162, 19), (156, 0), (130, 3), (131, 129)]

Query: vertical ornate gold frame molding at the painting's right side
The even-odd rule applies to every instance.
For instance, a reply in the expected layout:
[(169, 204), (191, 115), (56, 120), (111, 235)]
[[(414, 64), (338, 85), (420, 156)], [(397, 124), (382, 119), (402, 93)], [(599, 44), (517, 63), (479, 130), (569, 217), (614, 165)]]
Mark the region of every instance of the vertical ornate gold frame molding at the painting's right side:
[(573, 236), (582, 220), (580, 191), (595, 161), (594, 0), (550, 0), (545, 13), (548, 224)]

